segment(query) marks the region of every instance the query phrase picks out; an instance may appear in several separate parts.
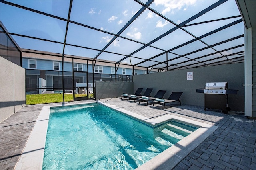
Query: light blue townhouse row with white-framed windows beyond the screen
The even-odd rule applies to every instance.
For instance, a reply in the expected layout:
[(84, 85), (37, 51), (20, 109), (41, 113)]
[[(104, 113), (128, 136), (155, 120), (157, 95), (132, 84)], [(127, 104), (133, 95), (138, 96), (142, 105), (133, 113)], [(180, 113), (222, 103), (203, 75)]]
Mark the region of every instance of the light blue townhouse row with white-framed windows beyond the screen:
[(95, 81), (132, 82), (133, 75), (158, 72), (156, 69), (132, 67), (126, 63), (117, 66), (106, 60), (97, 60), (94, 65), (93, 68), (91, 58), (65, 55), (62, 61), (61, 54), (23, 49), (22, 67), (26, 69), (26, 93), (42, 94), (63, 89), (72, 91), (73, 88), (79, 92), (79, 87), (82, 86), (94, 88)]

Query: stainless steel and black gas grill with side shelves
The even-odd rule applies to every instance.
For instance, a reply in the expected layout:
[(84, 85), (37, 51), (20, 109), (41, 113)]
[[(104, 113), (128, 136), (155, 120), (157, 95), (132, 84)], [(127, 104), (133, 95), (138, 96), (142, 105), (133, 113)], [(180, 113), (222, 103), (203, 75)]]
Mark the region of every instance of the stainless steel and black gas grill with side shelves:
[(237, 94), (238, 90), (229, 90), (227, 82), (206, 83), (204, 89), (196, 89), (197, 93), (204, 93), (204, 110), (219, 109), (228, 113), (228, 94)]

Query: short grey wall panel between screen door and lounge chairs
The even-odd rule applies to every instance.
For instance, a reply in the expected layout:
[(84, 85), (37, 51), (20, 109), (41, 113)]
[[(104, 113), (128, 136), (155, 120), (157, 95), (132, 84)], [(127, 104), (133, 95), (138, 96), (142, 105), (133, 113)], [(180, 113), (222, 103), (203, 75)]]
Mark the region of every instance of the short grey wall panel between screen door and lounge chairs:
[(123, 93), (133, 94), (133, 82), (95, 82), (96, 99), (116, 98)]

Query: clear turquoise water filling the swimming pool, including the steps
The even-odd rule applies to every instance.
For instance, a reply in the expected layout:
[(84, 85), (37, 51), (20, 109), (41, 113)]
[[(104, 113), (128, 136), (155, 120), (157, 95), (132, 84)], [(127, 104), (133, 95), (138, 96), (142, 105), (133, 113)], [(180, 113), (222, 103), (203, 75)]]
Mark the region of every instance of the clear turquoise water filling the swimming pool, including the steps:
[(152, 128), (100, 104), (51, 108), (44, 170), (133, 170), (194, 128)]

